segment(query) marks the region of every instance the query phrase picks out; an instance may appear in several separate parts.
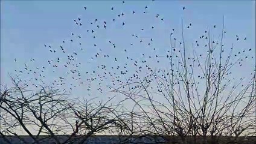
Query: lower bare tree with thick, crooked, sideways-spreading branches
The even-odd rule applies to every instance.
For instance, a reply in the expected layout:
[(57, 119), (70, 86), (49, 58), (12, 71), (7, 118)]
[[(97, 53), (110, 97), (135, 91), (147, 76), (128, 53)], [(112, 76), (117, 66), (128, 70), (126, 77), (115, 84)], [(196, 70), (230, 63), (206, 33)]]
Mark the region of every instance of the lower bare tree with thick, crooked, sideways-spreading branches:
[(9, 136), (24, 143), (85, 143), (95, 134), (111, 133), (118, 122), (118, 105), (108, 104), (112, 98), (99, 104), (69, 100), (58, 89), (42, 87), (34, 93), (12, 80), (12, 88), (1, 88), (0, 100), (0, 134), (7, 143)]

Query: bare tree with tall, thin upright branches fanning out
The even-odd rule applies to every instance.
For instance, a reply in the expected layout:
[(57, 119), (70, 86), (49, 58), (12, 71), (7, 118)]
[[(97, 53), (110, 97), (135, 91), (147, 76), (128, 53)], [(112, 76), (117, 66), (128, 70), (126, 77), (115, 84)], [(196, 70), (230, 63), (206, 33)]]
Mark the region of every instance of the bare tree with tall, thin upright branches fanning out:
[(166, 55), (169, 68), (149, 67), (149, 76), (143, 82), (113, 88), (136, 104), (137, 116), (143, 113), (139, 116), (143, 126), (139, 122), (136, 128), (147, 127), (144, 132), (156, 136), (179, 136), (182, 143), (191, 139), (188, 136), (193, 136), (194, 143), (219, 143), (222, 136), (234, 136), (235, 140), (238, 136), (254, 136), (255, 70), (251, 76), (235, 79), (234, 68), (246, 61), (248, 50), (234, 53), (233, 46), (224, 46), (225, 34), (223, 18), (220, 38), (214, 39), (207, 29), (200, 36), (205, 43), (200, 45), (206, 49), (199, 53), (194, 44), (186, 45), (182, 20), (182, 42), (176, 44), (174, 34), (170, 34)]

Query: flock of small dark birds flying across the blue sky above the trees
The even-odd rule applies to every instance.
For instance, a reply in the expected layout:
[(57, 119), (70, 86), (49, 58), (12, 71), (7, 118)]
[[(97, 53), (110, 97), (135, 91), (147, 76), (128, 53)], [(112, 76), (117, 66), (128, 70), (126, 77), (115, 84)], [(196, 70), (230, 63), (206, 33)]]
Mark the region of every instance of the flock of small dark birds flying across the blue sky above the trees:
[[(124, 1), (122, 3), (126, 4)], [(142, 12), (131, 10), (130, 16), (134, 16), (137, 13), (147, 14), (148, 9), (149, 7), (145, 6)], [(185, 7), (181, 9), (184, 11), (187, 10)], [(88, 8), (84, 7), (84, 10), (88, 11)], [(109, 10), (114, 11), (115, 7), (110, 7)], [(104, 95), (106, 91), (111, 91), (113, 87), (118, 88), (120, 86), (123, 86), (123, 88), (126, 89), (135, 89), (136, 86), (129, 88), (126, 87), (128, 83), (132, 82), (147, 83), (147, 87), (152, 89), (152, 91), (161, 92), (159, 86), (156, 85), (155, 77), (156, 74), (158, 74), (158, 76), (167, 79), (168, 75), (170, 75), (170, 70), (168, 70), (168, 67), (165, 67), (164, 64), (168, 64), (170, 58), (173, 58), (173, 61), (176, 62), (175, 73), (177, 74), (177, 77), (184, 74), (178, 71), (178, 67), (184, 66), (182, 65), (181, 61), (183, 42), (182, 40), (179, 41), (178, 38), (175, 37), (175, 29), (170, 29), (169, 35), (173, 45), (168, 48), (166, 52), (160, 53), (161, 50), (158, 50), (156, 46), (152, 46), (155, 42), (155, 38), (153, 38), (153, 36), (144, 38), (139, 35), (143, 31), (153, 31), (154, 29), (157, 29), (155, 26), (150, 26), (150, 28), (146, 28), (149, 27), (146, 26), (145, 28), (141, 28), (139, 30), (140, 32), (136, 31), (138, 34), (128, 34), (129, 32), (126, 33), (126, 35), (130, 35), (127, 37), (132, 37), (132, 40), (134, 40), (134, 43), (126, 42), (128, 43), (127, 45), (133, 48), (124, 48), (124, 46), (120, 46), (120, 44), (115, 43), (115, 40), (106, 40), (109, 44), (107, 47), (110, 47), (112, 51), (118, 52), (119, 56), (111, 55), (108, 50), (104, 50), (104, 47), (98, 46), (96, 39), (100, 37), (100, 31), (110, 27), (109, 23), (119, 23), (117, 25), (120, 25), (120, 28), (124, 29), (128, 24), (125, 21), (122, 22), (120, 19), (121, 17), (126, 17), (126, 15), (126, 13), (121, 12), (120, 14), (117, 14), (117, 17), (110, 19), (109, 21), (95, 18), (88, 23), (84, 21), (82, 22), (82, 17), (74, 19), (74, 25), (78, 26), (79, 28), (83, 28), (85, 23), (86, 25), (91, 25), (92, 29), (86, 29), (86, 33), (89, 35), (89, 37), (95, 39), (95, 43), (93, 43), (92, 46), (88, 46), (88, 43), (85, 42), (82, 34), (71, 32), (70, 39), (63, 40), (59, 44), (59, 47), (45, 44), (42, 49), (48, 50), (50, 53), (49, 55), (52, 56), (51, 59), (47, 60), (47, 65), (33, 68), (28, 64), (25, 64), (25, 67), (22, 70), (15, 71), (17, 75), (24, 74), (26, 77), (28, 77), (28, 79), (18, 79), (26, 86), (35, 86), (35, 88), (40, 88), (40, 85), (51, 85), (54, 88), (61, 88), (63, 92), (76, 91), (75, 89), (80, 87), (82, 88), (83, 94), (88, 95), (92, 95), (92, 93), (97, 95), (95, 91), (97, 91), (98, 94)], [(162, 22), (165, 20), (159, 14), (156, 14), (153, 17), (155, 17), (157, 22)], [(185, 28), (190, 29), (192, 26), (193, 25), (191, 23), (188, 23)], [(216, 25), (213, 26), (213, 28), (216, 27)], [(226, 31), (224, 33), (226, 34)], [(238, 37), (238, 35), (236, 35), (235, 38), (237, 41), (240, 41), (240, 37)], [(208, 41), (208, 31), (203, 31), (203, 34), (200, 35), (200, 37), (198, 37), (194, 43), (196, 47), (208, 47), (209, 43), (200, 44), (200, 40), (205, 40), (206, 42)], [(246, 40), (246, 37), (242, 40)], [(75, 45), (77, 49), (69, 47), (70, 44)], [(220, 44), (220, 42), (218, 40), (213, 40), (211, 41), (211, 44), (215, 44), (215, 46), (217, 46)], [(142, 53), (136, 53), (136, 46), (149, 47), (151, 51), (141, 50)], [(95, 53), (89, 57), (87, 62), (85, 62), (84, 59), (83, 61), (79, 61), (78, 57), (80, 56), (85, 58), (84, 52), (86, 53), (89, 49), (85, 47), (91, 47), (90, 49), (93, 49), (91, 52)], [(229, 49), (230, 47), (225, 48), (227, 51)], [(205, 50), (208, 49), (205, 48)], [(233, 53), (232, 58), (237, 58), (235, 61), (237, 61), (238, 65), (242, 66), (242, 62), (245, 62), (246, 59), (254, 58), (253, 56), (246, 55), (246, 52), (251, 50), (251, 48), (243, 49), (238, 53)], [(130, 52), (136, 53), (140, 55), (140, 57), (135, 56)], [(199, 59), (203, 59), (205, 58), (206, 53), (199, 53), (198, 56)], [(196, 63), (198, 68), (203, 65), (204, 62), (203, 61), (202, 64), (197, 62), (197, 59), (193, 56), (187, 57), (187, 60), (190, 67), (194, 67), (194, 63)], [(14, 61), (17, 62), (18, 59), (14, 59)], [(30, 61), (35, 62), (36, 58), (31, 58)], [(89, 65), (90, 63), (91, 65)], [(48, 71), (48, 75), (46, 75), (46, 71)], [(61, 71), (64, 74), (60, 74), (57, 71)], [(32, 77), (29, 77), (28, 74), (32, 74)], [(227, 73), (227, 75), (228, 74), (231, 75), (231, 72)], [(51, 80), (49, 75), (54, 77), (51, 82), (47, 82), (47, 80), (45, 80)], [(197, 80), (199, 84), (199, 82), (201, 82), (200, 80), (205, 79), (205, 75), (201, 73), (197, 76), (197, 78), (199, 79)], [(228, 80), (228, 77), (226, 79)], [(178, 78), (175, 83), (178, 83), (179, 80), (181, 79)], [(92, 91), (92, 89), (95, 89), (95, 91)]]

